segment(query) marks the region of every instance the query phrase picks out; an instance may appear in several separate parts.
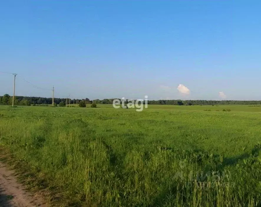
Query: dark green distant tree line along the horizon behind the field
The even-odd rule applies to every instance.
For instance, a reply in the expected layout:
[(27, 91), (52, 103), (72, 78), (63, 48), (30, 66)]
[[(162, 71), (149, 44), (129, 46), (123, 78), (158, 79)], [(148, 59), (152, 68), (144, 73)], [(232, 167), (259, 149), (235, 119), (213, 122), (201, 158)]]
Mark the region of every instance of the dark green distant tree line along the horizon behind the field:
[[(114, 99), (95, 99), (90, 100), (85, 99), (67, 99), (67, 104), (79, 103), (80, 101), (86, 102), (86, 104), (113, 104)], [(13, 97), (9, 94), (4, 94), (0, 96), (1, 105), (11, 105), (13, 102)], [(60, 104), (64, 102), (66, 104), (66, 98), (54, 98), (54, 103)], [(15, 96), (14, 105), (33, 105), (33, 104), (52, 104), (52, 98), (43, 97), (26, 97), (26, 96)], [(261, 101), (233, 101), (233, 100), (148, 100), (148, 104), (159, 104), (159, 105), (261, 105)]]

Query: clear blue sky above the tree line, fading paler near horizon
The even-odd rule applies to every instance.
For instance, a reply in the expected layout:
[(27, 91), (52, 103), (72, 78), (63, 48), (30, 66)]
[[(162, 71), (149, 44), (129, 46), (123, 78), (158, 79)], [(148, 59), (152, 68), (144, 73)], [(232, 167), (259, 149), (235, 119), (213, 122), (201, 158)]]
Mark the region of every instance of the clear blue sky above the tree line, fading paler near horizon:
[[(261, 100), (260, 9), (251, 0), (2, 1), (0, 71), (18, 74), (16, 95), (51, 97), (54, 85), (56, 97)], [(0, 73), (0, 94), (12, 88)]]

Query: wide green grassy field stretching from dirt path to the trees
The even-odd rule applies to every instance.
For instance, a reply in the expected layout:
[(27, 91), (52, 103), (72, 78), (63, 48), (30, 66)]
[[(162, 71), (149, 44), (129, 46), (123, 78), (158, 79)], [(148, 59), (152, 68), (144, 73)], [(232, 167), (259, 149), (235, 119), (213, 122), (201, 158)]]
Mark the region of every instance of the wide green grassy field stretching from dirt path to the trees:
[(260, 143), (257, 106), (0, 106), (3, 157), (54, 205), (261, 206)]

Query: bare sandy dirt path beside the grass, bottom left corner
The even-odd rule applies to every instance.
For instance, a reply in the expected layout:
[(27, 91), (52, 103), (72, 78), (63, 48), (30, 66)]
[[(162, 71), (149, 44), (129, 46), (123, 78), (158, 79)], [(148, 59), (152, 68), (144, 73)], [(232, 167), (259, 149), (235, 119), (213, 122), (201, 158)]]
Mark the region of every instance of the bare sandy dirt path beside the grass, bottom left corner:
[(0, 206), (1, 207), (32, 207), (47, 205), (40, 196), (32, 195), (24, 190), (16, 181), (14, 170), (9, 170), (0, 163)]

